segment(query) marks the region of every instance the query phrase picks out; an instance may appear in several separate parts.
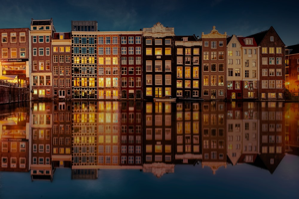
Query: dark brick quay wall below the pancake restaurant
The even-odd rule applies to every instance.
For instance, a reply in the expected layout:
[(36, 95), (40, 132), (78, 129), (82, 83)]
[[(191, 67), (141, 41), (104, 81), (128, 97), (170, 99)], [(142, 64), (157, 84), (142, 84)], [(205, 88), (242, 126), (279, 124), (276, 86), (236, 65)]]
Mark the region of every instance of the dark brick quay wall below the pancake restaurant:
[(29, 88), (0, 85), (0, 104), (30, 101)]

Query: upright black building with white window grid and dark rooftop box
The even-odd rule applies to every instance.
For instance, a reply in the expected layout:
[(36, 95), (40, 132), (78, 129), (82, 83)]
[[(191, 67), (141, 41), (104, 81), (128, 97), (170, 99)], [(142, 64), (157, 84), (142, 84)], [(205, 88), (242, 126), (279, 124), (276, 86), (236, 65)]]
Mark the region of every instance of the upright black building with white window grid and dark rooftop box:
[(97, 99), (97, 21), (71, 21), (72, 99)]

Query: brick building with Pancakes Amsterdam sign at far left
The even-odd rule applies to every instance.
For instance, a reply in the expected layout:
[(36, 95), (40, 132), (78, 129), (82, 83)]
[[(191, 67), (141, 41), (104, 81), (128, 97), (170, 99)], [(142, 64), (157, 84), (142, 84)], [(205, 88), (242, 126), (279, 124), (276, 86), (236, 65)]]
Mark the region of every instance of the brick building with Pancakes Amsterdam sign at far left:
[[(0, 80), (29, 85), (29, 29), (1, 29)], [(31, 46), (31, 44), (30, 44)]]

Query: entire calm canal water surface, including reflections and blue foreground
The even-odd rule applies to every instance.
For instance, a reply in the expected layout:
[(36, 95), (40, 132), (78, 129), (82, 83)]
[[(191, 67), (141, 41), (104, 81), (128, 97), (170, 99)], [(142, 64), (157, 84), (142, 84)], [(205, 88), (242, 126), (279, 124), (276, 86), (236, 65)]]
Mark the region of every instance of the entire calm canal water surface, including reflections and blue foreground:
[(0, 106), (0, 198), (298, 198), (298, 103)]

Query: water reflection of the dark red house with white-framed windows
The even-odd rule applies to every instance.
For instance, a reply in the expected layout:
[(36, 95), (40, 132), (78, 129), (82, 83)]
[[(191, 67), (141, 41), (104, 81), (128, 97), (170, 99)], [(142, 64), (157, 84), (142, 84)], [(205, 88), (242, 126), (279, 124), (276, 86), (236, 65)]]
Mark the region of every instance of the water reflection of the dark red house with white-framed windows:
[(120, 165), (142, 169), (142, 102), (120, 103)]

